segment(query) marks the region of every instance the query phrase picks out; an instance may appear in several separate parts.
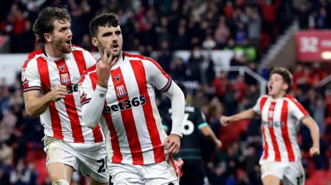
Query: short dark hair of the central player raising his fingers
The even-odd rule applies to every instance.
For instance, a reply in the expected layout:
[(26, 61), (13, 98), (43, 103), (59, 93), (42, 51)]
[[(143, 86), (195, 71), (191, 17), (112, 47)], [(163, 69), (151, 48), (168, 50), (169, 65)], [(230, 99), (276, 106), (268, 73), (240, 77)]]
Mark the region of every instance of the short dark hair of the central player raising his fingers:
[(95, 37), (98, 34), (99, 26), (117, 27), (118, 25), (121, 25), (121, 22), (119, 21), (119, 17), (117, 17), (116, 14), (103, 13), (94, 17), (90, 21), (88, 28), (90, 29), (90, 35)]

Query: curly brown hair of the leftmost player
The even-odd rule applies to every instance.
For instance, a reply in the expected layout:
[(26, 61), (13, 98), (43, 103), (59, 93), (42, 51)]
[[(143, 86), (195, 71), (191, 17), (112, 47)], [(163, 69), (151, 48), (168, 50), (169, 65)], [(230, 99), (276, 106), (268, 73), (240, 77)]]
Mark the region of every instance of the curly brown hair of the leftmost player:
[(71, 22), (70, 14), (65, 8), (61, 7), (48, 7), (41, 10), (32, 28), (39, 43), (46, 43), (43, 34), (52, 33), (54, 31), (55, 20)]

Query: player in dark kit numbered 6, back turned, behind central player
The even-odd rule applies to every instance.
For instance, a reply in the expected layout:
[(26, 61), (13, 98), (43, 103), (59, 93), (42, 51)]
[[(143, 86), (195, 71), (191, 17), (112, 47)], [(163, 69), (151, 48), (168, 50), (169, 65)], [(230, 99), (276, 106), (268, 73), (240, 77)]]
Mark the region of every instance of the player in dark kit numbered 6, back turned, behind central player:
[[(186, 88), (181, 83), (178, 86), (186, 96)], [(163, 127), (166, 131), (171, 130), (171, 109), (163, 116)], [(221, 141), (217, 139), (216, 135), (208, 126), (204, 114), (197, 107), (185, 105), (185, 114), (183, 121), (183, 138), (181, 139), (181, 149), (178, 155), (174, 157), (181, 157), (185, 162), (182, 171), (181, 185), (201, 185), (204, 183), (205, 170), (201, 157), (201, 142), (199, 138), (199, 131), (215, 144), (216, 149), (221, 148)]]

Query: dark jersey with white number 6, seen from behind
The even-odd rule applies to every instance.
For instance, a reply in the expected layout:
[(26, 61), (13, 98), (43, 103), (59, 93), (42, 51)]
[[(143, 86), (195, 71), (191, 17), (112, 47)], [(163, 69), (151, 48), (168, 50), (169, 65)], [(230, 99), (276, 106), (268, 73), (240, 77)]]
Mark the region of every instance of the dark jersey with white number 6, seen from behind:
[[(171, 109), (162, 116), (162, 123), (165, 130), (171, 131)], [(183, 120), (183, 138), (181, 138), (181, 149), (174, 157), (181, 157), (186, 160), (201, 160), (201, 137), (199, 130), (207, 126), (205, 116), (197, 107), (185, 106)]]

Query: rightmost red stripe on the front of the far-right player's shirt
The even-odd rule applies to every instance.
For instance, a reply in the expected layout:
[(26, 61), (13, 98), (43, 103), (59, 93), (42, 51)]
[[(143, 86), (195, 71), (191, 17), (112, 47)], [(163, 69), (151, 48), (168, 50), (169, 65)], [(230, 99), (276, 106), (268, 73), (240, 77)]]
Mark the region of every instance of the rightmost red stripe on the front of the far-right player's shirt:
[(283, 101), (283, 107), (281, 107), (281, 122), (284, 124), (284, 127), (281, 128), (281, 135), (283, 135), (286, 150), (288, 151), (288, 160), (293, 162), (294, 152), (292, 149), (290, 136), (288, 135), (288, 101), (286, 100)]

